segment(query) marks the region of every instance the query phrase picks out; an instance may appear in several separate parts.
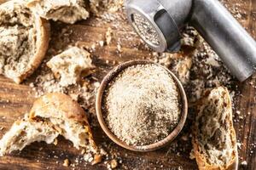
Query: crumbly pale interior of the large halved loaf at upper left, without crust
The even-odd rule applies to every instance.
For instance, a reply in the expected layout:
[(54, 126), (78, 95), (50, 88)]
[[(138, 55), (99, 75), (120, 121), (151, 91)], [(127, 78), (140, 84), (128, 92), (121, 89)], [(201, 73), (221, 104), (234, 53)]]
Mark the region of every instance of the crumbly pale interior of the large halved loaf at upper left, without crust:
[(0, 74), (15, 82), (37, 51), (36, 19), (21, 2), (0, 5)]

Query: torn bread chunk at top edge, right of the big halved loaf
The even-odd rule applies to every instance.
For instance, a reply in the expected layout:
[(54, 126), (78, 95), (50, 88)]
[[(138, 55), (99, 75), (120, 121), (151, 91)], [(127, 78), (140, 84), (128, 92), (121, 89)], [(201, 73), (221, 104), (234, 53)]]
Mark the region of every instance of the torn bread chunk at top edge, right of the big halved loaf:
[(26, 0), (26, 2), (28, 8), (47, 20), (74, 24), (89, 17), (84, 0)]

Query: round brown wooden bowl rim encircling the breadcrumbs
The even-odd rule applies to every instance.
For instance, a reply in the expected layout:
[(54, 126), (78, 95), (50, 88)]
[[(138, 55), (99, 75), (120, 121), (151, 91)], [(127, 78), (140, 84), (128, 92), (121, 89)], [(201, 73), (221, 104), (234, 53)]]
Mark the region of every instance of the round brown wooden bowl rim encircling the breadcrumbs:
[(98, 89), (97, 95), (96, 95), (96, 116), (97, 119), (103, 129), (103, 131), (108, 135), (110, 139), (113, 140), (114, 143), (119, 144), (120, 146), (124, 147), (125, 149), (128, 150), (134, 150), (134, 151), (150, 151), (150, 150), (157, 150), (162, 147), (164, 147), (166, 144), (169, 144), (172, 142), (173, 139), (177, 137), (177, 135), (181, 132), (184, 123), (187, 118), (187, 113), (188, 113), (188, 101), (186, 94), (184, 92), (183, 86), (181, 82), (177, 79), (174, 74), (169, 71), (166, 67), (159, 65), (160, 67), (163, 67), (166, 71), (170, 73), (170, 75), (173, 77), (174, 81), (177, 82), (177, 87), (179, 88), (179, 94), (180, 94), (180, 101), (182, 104), (182, 112), (181, 112), (181, 117), (180, 121), (177, 124), (177, 127), (174, 128), (172, 133), (170, 133), (165, 139), (162, 139), (154, 144), (148, 144), (148, 145), (143, 145), (143, 146), (135, 146), (135, 145), (128, 145), (122, 140), (118, 139), (108, 128), (107, 123), (105, 122), (104, 119), (104, 111), (102, 111), (102, 99), (104, 97), (105, 89), (108, 87), (108, 83), (112, 82), (114, 77), (117, 77), (119, 73), (123, 70), (125, 70), (127, 67), (130, 67), (132, 65), (148, 65), (148, 64), (154, 64), (154, 65), (159, 65), (155, 64), (154, 62), (147, 61), (147, 60), (136, 60), (136, 61), (129, 61), (126, 62), (122, 65), (118, 65), (115, 67), (112, 71), (108, 73), (108, 75), (103, 79), (100, 88)]

